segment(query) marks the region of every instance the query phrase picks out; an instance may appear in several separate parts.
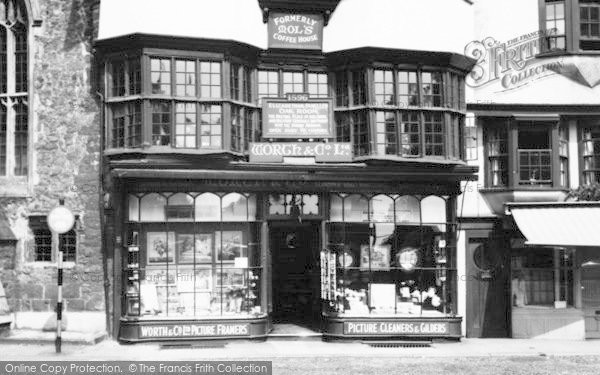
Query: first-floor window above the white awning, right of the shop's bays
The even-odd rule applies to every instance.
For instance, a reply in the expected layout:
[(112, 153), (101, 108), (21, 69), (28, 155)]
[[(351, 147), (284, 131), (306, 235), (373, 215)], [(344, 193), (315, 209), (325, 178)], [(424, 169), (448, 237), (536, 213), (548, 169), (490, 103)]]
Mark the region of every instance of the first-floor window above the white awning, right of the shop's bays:
[(568, 188), (568, 131), (560, 120), (480, 118), (488, 188)]

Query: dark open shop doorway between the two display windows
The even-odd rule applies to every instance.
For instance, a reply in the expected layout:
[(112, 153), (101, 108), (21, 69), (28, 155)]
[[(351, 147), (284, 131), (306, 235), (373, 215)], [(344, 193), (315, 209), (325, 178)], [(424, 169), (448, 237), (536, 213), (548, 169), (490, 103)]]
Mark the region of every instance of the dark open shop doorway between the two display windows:
[(320, 326), (319, 222), (270, 225), (273, 323)]

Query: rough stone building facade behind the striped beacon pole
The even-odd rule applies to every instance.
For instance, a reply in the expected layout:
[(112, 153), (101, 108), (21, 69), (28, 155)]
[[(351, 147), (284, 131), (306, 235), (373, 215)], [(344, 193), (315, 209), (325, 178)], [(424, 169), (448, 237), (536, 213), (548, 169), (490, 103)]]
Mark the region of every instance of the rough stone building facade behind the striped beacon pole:
[(104, 327), (100, 106), (92, 84), (98, 5), (0, 2), (0, 316), (16, 328), (54, 324), (58, 253), (46, 215), (59, 199), (77, 217), (59, 239), (69, 275), (64, 309), (72, 328), (86, 311)]

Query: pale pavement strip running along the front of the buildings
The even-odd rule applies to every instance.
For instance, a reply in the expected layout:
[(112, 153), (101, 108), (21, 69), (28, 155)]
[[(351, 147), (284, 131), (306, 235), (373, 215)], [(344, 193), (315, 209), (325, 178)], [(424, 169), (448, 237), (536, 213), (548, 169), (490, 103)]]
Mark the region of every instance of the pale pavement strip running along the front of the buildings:
[[(220, 343), (215, 343), (220, 344)], [(54, 343), (18, 343), (0, 338), (2, 360), (198, 360), (283, 358), (481, 358), (597, 356), (600, 340), (462, 339), (434, 342), (430, 347), (372, 347), (359, 341), (323, 342), (319, 339), (229, 341), (223, 346), (164, 347), (157, 343), (119, 344), (111, 339), (96, 345), (64, 343), (55, 353)]]

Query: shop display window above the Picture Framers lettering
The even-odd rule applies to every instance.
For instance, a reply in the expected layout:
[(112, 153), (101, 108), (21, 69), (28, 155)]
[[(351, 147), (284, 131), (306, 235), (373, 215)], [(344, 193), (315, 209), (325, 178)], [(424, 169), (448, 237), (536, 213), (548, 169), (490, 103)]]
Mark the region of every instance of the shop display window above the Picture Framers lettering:
[(130, 317), (259, 316), (256, 195), (130, 194), (123, 311)]

